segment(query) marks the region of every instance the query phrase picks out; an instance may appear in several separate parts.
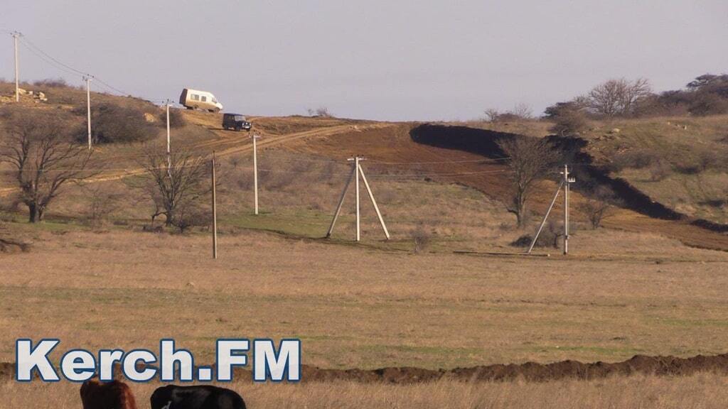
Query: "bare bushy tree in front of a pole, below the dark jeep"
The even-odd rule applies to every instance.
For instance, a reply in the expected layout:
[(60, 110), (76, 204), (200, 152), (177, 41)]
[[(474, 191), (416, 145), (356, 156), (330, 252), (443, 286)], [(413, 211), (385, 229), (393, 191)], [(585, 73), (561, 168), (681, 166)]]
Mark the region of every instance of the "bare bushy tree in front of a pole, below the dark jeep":
[(140, 186), (154, 203), (151, 220), (165, 216), (165, 226), (176, 226), (182, 231), (189, 227), (189, 215), (199, 201), (210, 192), (207, 181), (209, 167), (201, 156), (178, 150), (170, 155), (157, 148), (147, 148), (143, 183)]

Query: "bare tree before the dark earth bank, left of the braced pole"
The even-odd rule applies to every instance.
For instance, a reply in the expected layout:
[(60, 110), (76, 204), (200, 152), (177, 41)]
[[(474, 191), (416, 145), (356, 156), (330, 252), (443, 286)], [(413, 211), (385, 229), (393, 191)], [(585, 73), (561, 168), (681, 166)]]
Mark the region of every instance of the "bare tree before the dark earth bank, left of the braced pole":
[(517, 219), (518, 227), (526, 223), (526, 202), (537, 180), (558, 161), (560, 155), (545, 139), (516, 136), (498, 141), (503, 153), (510, 158), (512, 191), (507, 210)]

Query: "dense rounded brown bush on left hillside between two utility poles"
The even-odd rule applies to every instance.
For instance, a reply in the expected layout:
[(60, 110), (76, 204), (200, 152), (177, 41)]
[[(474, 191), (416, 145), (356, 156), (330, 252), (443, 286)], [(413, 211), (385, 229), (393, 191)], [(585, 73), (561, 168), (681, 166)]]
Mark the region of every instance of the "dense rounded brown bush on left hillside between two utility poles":
[[(122, 107), (111, 103), (92, 106), (91, 137), (95, 143), (132, 143), (154, 138), (158, 129), (144, 118), (138, 108)], [(80, 132), (78, 139), (87, 140)]]

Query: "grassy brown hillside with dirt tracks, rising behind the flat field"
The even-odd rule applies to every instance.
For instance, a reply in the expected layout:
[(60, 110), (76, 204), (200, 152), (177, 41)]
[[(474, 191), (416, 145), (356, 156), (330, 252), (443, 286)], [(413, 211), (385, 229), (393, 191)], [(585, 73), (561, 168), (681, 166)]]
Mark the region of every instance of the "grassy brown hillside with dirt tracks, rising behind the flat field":
[[(23, 87), (42, 90), (48, 97), (47, 103), (24, 97), (23, 106), (66, 109), (74, 113), (76, 121), (84, 122), (84, 90), (28, 84)], [(0, 83), (0, 95), (11, 94), (12, 84)], [(151, 134), (144, 142), (107, 143), (97, 146), (95, 151), (100, 162), (106, 164), (106, 170), (97, 180), (105, 181), (101, 185), (106, 190), (123, 196), (114, 218), (123, 219), (118, 223), (145, 223), (149, 204), (123, 180), (139, 174), (140, 161), (147, 151), (164, 148), (163, 110), (138, 98), (93, 93), (92, 105), (98, 104), (134, 108), (140, 113), (140, 122), (151, 124)], [(409, 243), (421, 226), (430, 226), (427, 234), (435, 242), (451, 243), (443, 248), (502, 251), (519, 234), (533, 229), (533, 226), (528, 226), (526, 231), (513, 229), (513, 218), (502, 205), (507, 191), (502, 164), (478, 163), (482, 156), (477, 154), (415, 143), (411, 131), (418, 124), (304, 116), (250, 117), (254, 131), (263, 137), (258, 142), (261, 200), (267, 202), (268, 211), (273, 210), (271, 206), (275, 210), (271, 216), (250, 218), (250, 200), (240, 199), (250, 197), (250, 135), (223, 130), (221, 114), (179, 111), (184, 123), (173, 129), (173, 149), (202, 156), (210, 156), (215, 151), (221, 157), (230, 183), (221, 196), (226, 201), (221, 217), (232, 226), (321, 237), (348, 174), (347, 157), (363, 154), (370, 159), (365, 167), (371, 172), (376, 194), (383, 197), (385, 216), (395, 218), (399, 225), (394, 231), (400, 241)], [(546, 121), (469, 122), (466, 125), (532, 136), (548, 135), (551, 126)], [(728, 178), (719, 158), (725, 149), (725, 135), (728, 135), (727, 118), (708, 116), (593, 122), (583, 138), (588, 141), (586, 150), (596, 165), (609, 170), (612, 176), (628, 180), (655, 201), (681, 213), (724, 223), (727, 210), (725, 194), (721, 196), (721, 192), (728, 188)], [(654, 177), (656, 172), (659, 178)], [(12, 190), (4, 189), (6, 193)], [(68, 189), (70, 193), (60, 199), (51, 214), (64, 220), (84, 218), (84, 209), (90, 200), (88, 187)], [(225, 196), (225, 191), (229, 196)], [(551, 191), (552, 183), (545, 181), (534, 196), (534, 213), (539, 215), (545, 211)], [(442, 199), (438, 203), (432, 197)], [(579, 212), (579, 204), (585, 199), (577, 193), (573, 200), (574, 221), (585, 224), (585, 216)], [(10, 206), (10, 210), (18, 208)], [(555, 218), (561, 217), (560, 211), (556, 210)], [(368, 221), (374, 221), (373, 214), (366, 216)], [(352, 223), (350, 215), (344, 215), (342, 220)], [(467, 228), (468, 221), (472, 220), (486, 222), (480, 226), (482, 229)], [(724, 235), (628, 210), (618, 210), (605, 225), (613, 229), (657, 232), (690, 245), (728, 250)], [(374, 231), (378, 227), (371, 223), (365, 229)]]

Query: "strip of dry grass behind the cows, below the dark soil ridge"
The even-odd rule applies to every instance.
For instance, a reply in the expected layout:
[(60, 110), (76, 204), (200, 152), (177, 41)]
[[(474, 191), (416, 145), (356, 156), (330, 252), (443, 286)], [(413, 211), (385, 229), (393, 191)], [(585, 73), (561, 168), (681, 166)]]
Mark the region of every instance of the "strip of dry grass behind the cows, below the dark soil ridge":
[[(139, 408), (160, 386), (132, 384)], [(728, 378), (633, 376), (600, 381), (464, 384), (250, 384), (222, 385), (236, 390), (248, 408), (642, 408), (713, 409), (728, 405)], [(80, 407), (79, 385), (0, 383), (3, 408), (71, 409)]]

